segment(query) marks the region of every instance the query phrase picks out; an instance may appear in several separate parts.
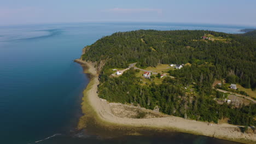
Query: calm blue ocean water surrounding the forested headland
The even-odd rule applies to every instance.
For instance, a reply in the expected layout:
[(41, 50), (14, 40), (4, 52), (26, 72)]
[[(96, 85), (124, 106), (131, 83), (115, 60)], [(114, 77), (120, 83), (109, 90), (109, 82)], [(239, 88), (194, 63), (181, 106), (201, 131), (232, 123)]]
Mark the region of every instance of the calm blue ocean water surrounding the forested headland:
[(250, 27), (124, 22), (2, 26), (0, 143), (233, 143), (188, 134), (121, 140), (67, 136), (78, 122), (82, 92), (89, 81), (73, 60), (80, 57), (84, 46), (118, 31), (205, 29), (241, 33), (243, 28)]

